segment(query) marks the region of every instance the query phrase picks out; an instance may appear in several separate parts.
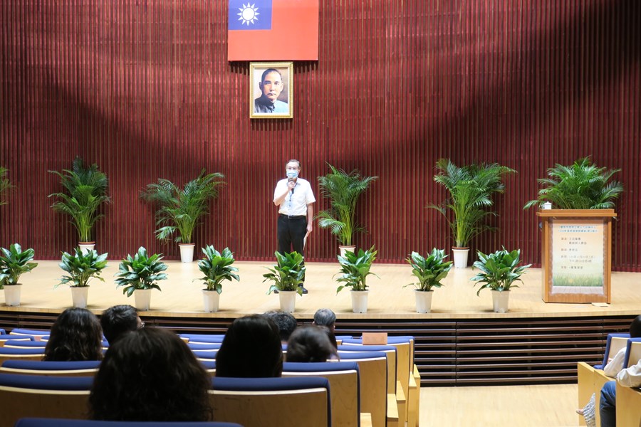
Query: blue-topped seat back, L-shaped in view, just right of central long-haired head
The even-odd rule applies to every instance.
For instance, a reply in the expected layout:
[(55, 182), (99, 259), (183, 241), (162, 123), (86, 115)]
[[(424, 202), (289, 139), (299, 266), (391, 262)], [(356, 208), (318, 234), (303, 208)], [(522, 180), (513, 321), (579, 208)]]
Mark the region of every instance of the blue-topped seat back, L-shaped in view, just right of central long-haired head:
[(283, 363), (283, 376), (322, 376), (331, 391), (332, 425), (360, 426), (360, 375), (356, 362)]

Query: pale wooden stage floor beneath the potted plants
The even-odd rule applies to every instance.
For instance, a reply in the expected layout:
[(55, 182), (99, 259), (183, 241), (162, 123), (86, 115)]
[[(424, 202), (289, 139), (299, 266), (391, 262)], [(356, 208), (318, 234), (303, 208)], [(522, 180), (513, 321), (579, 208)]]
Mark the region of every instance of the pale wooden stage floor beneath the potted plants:
[[(237, 262), (240, 282), (226, 282), (220, 300), (220, 310), (216, 313), (202, 311), (202, 277), (197, 263), (167, 261), (169, 278), (160, 282), (162, 292), (152, 292), (151, 310), (147, 315), (154, 317), (214, 317), (235, 318), (243, 315), (278, 310), (278, 296), (266, 295), (269, 283), (263, 283), (262, 275), (267, 272), (269, 263)], [(89, 291), (88, 309), (100, 314), (105, 308), (117, 304), (134, 305), (133, 297), (123, 295), (116, 288), (113, 275), (118, 270), (118, 262), (110, 261), (103, 271), (105, 282), (92, 280)], [(612, 274), (612, 304), (596, 307), (591, 304), (546, 304), (541, 299), (541, 270), (530, 268), (523, 275), (523, 284), (511, 292), (510, 310), (504, 314), (491, 310), (491, 294), (483, 290), (476, 296), (476, 287), (469, 278), (475, 273), (471, 268), (452, 269), (444, 286), (435, 290), (432, 312), (415, 312), (414, 288), (403, 285), (412, 282), (409, 265), (375, 264), (372, 272), (379, 277), (370, 276), (369, 308), (365, 314), (351, 311), (350, 292), (343, 290), (336, 294), (338, 283), (333, 275), (338, 272), (337, 263), (308, 263), (306, 288), (308, 295), (296, 298), (296, 312), (299, 319), (313, 317), (318, 308), (328, 307), (339, 319), (478, 319), (478, 318), (529, 318), (529, 317), (609, 317), (637, 315), (641, 313), (641, 273)], [(62, 312), (71, 307), (71, 292), (68, 286), (53, 286), (63, 270), (58, 261), (38, 261), (38, 267), (21, 277), (22, 296), (19, 307), (4, 305), (4, 293), (0, 294), (0, 309), (6, 312)]]

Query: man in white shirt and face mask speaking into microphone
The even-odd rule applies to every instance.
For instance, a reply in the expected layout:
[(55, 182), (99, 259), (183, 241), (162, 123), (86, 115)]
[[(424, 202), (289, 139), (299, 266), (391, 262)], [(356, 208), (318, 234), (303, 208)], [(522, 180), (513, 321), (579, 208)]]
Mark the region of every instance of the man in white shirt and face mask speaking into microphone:
[[(309, 181), (298, 177), (301, 162), (290, 160), (285, 172), (287, 178), (278, 181), (273, 191), (273, 204), (278, 206), (278, 252), (296, 251), (304, 257), (305, 240), (313, 228), (316, 199)], [(307, 293), (304, 287), (303, 293)]]

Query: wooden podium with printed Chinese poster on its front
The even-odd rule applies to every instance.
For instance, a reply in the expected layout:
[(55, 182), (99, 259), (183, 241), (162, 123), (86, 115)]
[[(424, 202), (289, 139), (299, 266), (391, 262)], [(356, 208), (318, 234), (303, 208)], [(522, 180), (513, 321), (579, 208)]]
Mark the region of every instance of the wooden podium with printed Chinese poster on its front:
[(608, 302), (614, 209), (542, 209), (544, 302)]

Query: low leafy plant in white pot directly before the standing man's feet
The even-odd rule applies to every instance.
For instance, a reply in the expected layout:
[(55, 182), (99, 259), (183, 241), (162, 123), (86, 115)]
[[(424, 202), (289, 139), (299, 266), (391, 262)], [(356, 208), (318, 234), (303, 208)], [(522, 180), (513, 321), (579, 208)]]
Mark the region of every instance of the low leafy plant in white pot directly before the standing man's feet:
[(303, 278), (305, 278), (306, 267), (303, 264), (303, 255), (293, 251), (291, 253), (274, 253), (276, 255), (276, 265), (273, 268), (267, 268), (269, 273), (263, 275), (266, 282), (273, 282), (267, 290), (267, 295), (271, 292), (278, 293), (283, 312), (293, 312), (296, 308), (296, 294), (303, 295)]

